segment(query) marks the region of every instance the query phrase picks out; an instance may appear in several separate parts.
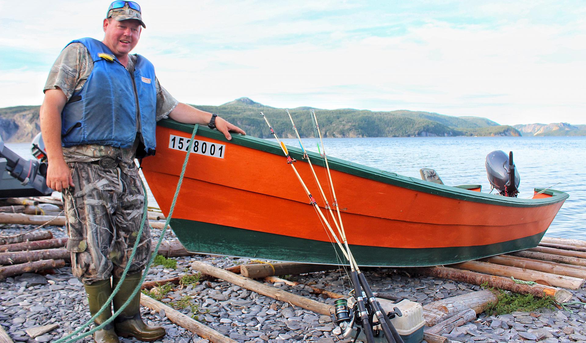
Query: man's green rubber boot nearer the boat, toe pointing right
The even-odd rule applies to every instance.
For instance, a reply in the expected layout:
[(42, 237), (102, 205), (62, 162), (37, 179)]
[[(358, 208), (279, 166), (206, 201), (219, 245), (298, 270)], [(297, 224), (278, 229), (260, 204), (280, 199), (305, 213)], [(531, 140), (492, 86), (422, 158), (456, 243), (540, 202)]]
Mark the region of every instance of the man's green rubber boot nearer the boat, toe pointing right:
[[(127, 275), (122, 282), (122, 286), (118, 293), (114, 296), (113, 304), (114, 311), (118, 311), (122, 305), (126, 302), (128, 297), (131, 296), (132, 291), (138, 286), (142, 278), (142, 273), (134, 275)], [(113, 278), (112, 288), (120, 282), (117, 277)], [(114, 328), (116, 333), (121, 337), (132, 336), (141, 341), (156, 341), (165, 335), (165, 329), (162, 327), (152, 327), (144, 323), (141, 318), (141, 292), (132, 299), (124, 311), (118, 314), (118, 317), (114, 320)]]

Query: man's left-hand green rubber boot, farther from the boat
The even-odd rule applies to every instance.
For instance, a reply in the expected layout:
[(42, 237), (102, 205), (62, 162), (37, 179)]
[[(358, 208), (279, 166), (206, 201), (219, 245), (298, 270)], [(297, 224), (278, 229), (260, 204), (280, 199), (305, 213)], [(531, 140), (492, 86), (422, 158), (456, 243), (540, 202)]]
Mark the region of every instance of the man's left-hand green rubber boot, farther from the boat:
[[(84, 287), (86, 288), (87, 302), (90, 304), (90, 313), (93, 317), (94, 314), (100, 311), (100, 308), (104, 305), (105, 301), (108, 300), (110, 294), (112, 294), (110, 279), (96, 281), (92, 284), (84, 284)], [(103, 313), (96, 317), (94, 323), (100, 325), (110, 317), (112, 317), (112, 308), (106, 308)], [(120, 343), (112, 323), (106, 325), (103, 329), (94, 332), (94, 341), (96, 341), (96, 343)]]

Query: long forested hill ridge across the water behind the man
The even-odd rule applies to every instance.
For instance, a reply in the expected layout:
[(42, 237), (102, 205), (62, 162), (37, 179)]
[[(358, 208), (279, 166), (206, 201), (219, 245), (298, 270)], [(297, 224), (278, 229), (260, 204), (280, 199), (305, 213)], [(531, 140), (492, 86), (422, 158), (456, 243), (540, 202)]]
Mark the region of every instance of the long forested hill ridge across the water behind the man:
[[(194, 105), (213, 112), (243, 128), (248, 135), (271, 136), (259, 112), (264, 112), (277, 134), (294, 138), (287, 113), (239, 98), (220, 106)], [(421, 111), (369, 111), (366, 109), (291, 108), (289, 112), (302, 137), (314, 137), (309, 110), (314, 109), (325, 137), (437, 137), (437, 136), (520, 136), (512, 126), (499, 125), (475, 116), (449, 116)], [(30, 142), (39, 132), (39, 106), (17, 106), (0, 109), (0, 135), (6, 142)]]

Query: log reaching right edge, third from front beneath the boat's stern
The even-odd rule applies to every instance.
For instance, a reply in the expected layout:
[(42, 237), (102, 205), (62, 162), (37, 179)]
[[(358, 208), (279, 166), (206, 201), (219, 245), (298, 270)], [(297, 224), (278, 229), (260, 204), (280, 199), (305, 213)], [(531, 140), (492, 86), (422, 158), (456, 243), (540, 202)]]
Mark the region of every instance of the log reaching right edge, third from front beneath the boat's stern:
[(482, 259), (482, 262), (489, 262), (495, 263), (496, 265), (537, 270), (538, 272), (553, 273), (556, 275), (577, 277), (578, 279), (586, 278), (586, 267), (565, 265), (563, 263), (554, 263), (550, 261), (536, 261), (534, 259), (520, 258), (519, 256), (492, 256), (489, 258)]

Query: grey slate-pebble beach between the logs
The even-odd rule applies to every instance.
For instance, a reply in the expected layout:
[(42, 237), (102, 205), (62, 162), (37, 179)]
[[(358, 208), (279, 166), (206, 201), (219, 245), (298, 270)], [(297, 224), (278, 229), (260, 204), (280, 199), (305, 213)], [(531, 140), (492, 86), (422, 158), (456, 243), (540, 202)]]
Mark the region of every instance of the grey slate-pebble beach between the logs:
[[(0, 225), (0, 235), (14, 235), (33, 228), (35, 227), (27, 225)], [(62, 227), (43, 229), (52, 231), (55, 238), (66, 236)], [(160, 233), (161, 230), (153, 229), (153, 238), (158, 238)], [(175, 236), (172, 232), (167, 232), (165, 239), (172, 241)], [(167, 279), (192, 273), (190, 265), (195, 260), (220, 268), (250, 262), (249, 259), (207, 255), (175, 259), (177, 266), (174, 269), (161, 265), (152, 266), (147, 280)], [(396, 269), (370, 268), (363, 271), (373, 291), (418, 301), (421, 304), (481, 289), (479, 286), (452, 280), (411, 277)], [(337, 293), (347, 293), (349, 290), (348, 277), (343, 271), (311, 273), (291, 276), (289, 279)], [(304, 285), (272, 285), (326, 304), (333, 304), (332, 299), (317, 296)], [(572, 292), (573, 300), (586, 300), (584, 286)], [(195, 317), (201, 323), (237, 342), (337, 341), (331, 334), (333, 324), (328, 316), (261, 296), (221, 280), (205, 281), (186, 287), (175, 286), (161, 301)], [(514, 312), (498, 316), (481, 314), (477, 320), (444, 336), (452, 341), (479, 343), (586, 342), (585, 306), (575, 304), (567, 308), (568, 311), (541, 309), (532, 313)], [(208, 342), (171, 323), (163, 311), (151, 311), (142, 307), (142, 314), (148, 324), (165, 327), (167, 335), (159, 342)], [(9, 277), (0, 282), (0, 325), (15, 342), (54, 341), (80, 327), (89, 318), (83, 285), (71, 275), (71, 268), (68, 266), (56, 269), (53, 274), (45, 276), (25, 274)], [(36, 338), (29, 337), (25, 332), (28, 328), (53, 323), (58, 323), (59, 327)], [(81, 341), (90, 342), (91, 337)], [(134, 338), (121, 338), (121, 342), (139, 341)]]

